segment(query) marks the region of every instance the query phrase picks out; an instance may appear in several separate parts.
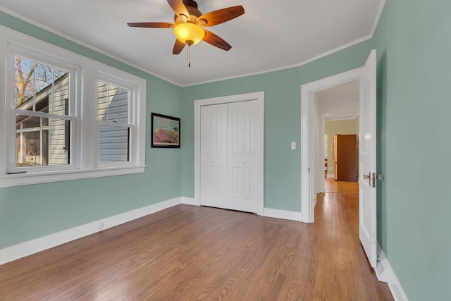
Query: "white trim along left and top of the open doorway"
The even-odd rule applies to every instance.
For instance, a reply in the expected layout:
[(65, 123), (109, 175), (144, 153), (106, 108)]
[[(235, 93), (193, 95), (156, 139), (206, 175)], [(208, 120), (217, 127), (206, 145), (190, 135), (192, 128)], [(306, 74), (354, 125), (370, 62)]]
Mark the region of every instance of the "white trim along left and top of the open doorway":
[(309, 82), (301, 86), (301, 210), (304, 223), (314, 222), (314, 92), (328, 89), (336, 85), (360, 80), (362, 68), (356, 68), (328, 78)]

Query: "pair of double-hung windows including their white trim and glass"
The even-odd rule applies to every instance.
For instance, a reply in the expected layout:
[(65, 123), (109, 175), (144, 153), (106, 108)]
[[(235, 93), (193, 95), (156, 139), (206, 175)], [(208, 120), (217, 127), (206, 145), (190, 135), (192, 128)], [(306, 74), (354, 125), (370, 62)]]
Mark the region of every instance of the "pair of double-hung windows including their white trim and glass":
[(144, 79), (0, 34), (0, 187), (144, 172)]

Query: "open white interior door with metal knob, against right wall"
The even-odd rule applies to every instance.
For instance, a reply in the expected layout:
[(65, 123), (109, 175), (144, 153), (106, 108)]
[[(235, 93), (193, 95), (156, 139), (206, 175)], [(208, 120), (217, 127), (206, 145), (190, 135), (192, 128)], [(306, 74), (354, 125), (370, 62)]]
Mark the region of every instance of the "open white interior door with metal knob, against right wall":
[(359, 237), (369, 263), (376, 267), (376, 50), (360, 81)]

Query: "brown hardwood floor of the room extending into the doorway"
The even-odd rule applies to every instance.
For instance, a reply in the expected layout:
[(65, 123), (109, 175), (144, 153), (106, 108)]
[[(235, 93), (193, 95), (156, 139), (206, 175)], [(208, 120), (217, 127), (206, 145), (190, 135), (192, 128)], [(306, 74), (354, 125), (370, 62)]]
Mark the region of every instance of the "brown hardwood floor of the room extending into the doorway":
[(321, 194), (313, 224), (178, 205), (0, 266), (0, 300), (393, 300), (357, 198)]

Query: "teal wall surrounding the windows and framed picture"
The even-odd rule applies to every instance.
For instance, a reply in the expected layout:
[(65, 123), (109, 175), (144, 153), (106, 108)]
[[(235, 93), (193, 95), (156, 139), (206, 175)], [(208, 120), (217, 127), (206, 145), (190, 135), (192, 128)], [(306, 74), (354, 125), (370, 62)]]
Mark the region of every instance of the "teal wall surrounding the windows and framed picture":
[(147, 80), (145, 173), (0, 188), (0, 249), (180, 197), (180, 149), (151, 149), (148, 122), (180, 116), (180, 87), (1, 12), (0, 25)]

